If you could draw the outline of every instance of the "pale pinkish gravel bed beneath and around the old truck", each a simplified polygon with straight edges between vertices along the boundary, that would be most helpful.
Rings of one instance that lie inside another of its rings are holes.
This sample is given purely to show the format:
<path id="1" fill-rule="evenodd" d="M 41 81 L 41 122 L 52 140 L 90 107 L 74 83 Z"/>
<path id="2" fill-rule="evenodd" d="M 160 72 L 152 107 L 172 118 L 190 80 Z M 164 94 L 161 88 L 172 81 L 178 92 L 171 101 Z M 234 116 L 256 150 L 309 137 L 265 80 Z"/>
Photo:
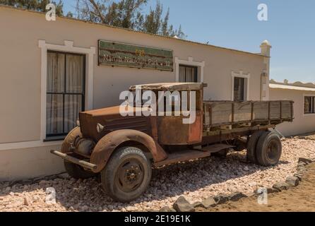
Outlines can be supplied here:
<path id="1" fill-rule="evenodd" d="M 0 211 L 148 211 L 159 210 L 184 195 L 191 203 L 208 196 L 271 187 L 296 172 L 299 157 L 315 158 L 315 141 L 283 139 L 279 165 L 260 167 L 245 163 L 246 153 L 229 153 L 226 159 L 208 157 L 153 170 L 148 191 L 137 201 L 115 203 L 96 179 L 42 180 L 35 184 L 0 183 Z M 46 189 L 56 190 L 57 203 L 46 203 Z"/>

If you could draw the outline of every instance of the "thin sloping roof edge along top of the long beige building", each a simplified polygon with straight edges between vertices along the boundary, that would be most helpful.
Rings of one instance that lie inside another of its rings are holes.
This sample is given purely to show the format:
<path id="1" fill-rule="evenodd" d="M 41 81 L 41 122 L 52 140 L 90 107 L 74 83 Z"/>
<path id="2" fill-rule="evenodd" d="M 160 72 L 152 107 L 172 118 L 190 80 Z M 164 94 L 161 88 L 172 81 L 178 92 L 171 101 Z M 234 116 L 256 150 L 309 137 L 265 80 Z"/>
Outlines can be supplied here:
<path id="1" fill-rule="evenodd" d="M 0 4 L 0 8 L 10 8 L 12 10 L 27 11 L 27 12 L 30 12 L 30 13 L 39 13 L 39 14 L 45 15 L 45 13 L 43 13 L 43 12 L 32 11 L 32 10 L 28 10 L 28 9 L 25 9 L 25 8 L 15 8 L 15 7 L 12 7 L 12 6 L 6 6 L 6 5 L 1 5 L 1 4 Z M 261 53 L 253 53 L 253 52 L 246 52 L 246 51 L 242 51 L 242 50 L 238 50 L 238 49 L 230 49 L 230 48 L 226 48 L 226 47 L 218 47 L 218 46 L 215 46 L 215 45 L 212 45 L 212 44 L 206 44 L 206 43 L 196 42 L 196 41 L 192 41 L 192 40 L 182 40 L 182 39 L 179 39 L 178 37 L 169 37 L 169 36 L 163 36 L 163 35 L 155 35 L 155 34 L 151 34 L 151 33 L 148 33 L 148 32 L 142 32 L 142 31 L 138 31 L 138 30 L 131 30 L 129 28 L 115 27 L 115 26 L 112 26 L 112 25 L 104 24 L 104 23 L 93 23 L 93 22 L 90 22 L 90 21 L 81 20 L 81 19 L 77 19 L 77 18 L 70 18 L 70 17 L 66 17 L 66 16 L 57 16 L 57 18 L 64 18 L 66 20 L 74 20 L 74 21 L 83 22 L 83 23 L 90 23 L 90 24 L 93 24 L 93 25 L 101 25 L 101 26 L 105 26 L 107 28 L 114 28 L 114 29 L 119 29 L 119 30 L 127 30 L 129 32 L 143 33 L 143 34 L 150 35 L 150 36 L 165 38 L 165 39 L 169 39 L 169 40 L 176 40 L 177 42 L 186 42 L 186 43 L 191 43 L 191 44 L 200 44 L 200 45 L 203 45 L 203 46 L 206 46 L 206 47 L 214 47 L 214 48 L 218 48 L 218 49 L 225 49 L 225 50 L 230 50 L 230 51 L 233 51 L 233 52 L 239 52 L 239 53 L 243 53 L 243 54 L 251 54 L 251 55 L 255 55 L 255 56 L 259 56 L 259 57 L 267 57 L 267 56 L 263 56 L 263 54 L 261 54 Z"/>

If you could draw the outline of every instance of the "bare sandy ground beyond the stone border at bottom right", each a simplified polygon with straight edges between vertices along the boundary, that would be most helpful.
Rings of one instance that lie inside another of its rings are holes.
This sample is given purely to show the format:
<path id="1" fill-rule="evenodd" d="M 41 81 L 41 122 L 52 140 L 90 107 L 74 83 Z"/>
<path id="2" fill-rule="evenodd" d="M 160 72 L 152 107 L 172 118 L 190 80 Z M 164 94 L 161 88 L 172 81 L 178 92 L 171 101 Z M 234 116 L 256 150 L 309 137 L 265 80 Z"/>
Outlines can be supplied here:
<path id="1" fill-rule="evenodd" d="M 315 162 L 309 165 L 299 186 L 268 196 L 268 204 L 258 204 L 255 196 L 235 203 L 227 203 L 215 208 L 198 211 L 206 212 L 315 212 Z"/>

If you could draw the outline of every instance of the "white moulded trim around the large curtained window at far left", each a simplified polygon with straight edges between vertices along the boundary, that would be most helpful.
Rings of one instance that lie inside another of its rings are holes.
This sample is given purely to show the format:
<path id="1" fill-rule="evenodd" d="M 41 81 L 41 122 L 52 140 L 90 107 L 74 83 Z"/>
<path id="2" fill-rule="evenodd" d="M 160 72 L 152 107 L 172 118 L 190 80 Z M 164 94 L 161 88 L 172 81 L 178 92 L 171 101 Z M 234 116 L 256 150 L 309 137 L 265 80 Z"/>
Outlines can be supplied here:
<path id="1" fill-rule="evenodd" d="M 64 40 L 64 45 L 49 44 L 45 40 L 39 40 L 38 46 L 42 49 L 42 66 L 41 66 L 41 129 L 40 141 L 46 138 L 46 90 L 47 90 L 47 51 L 54 50 L 60 52 L 73 52 L 85 54 L 85 109 L 93 109 L 93 66 L 95 47 L 82 48 L 74 47 L 72 41 Z"/>

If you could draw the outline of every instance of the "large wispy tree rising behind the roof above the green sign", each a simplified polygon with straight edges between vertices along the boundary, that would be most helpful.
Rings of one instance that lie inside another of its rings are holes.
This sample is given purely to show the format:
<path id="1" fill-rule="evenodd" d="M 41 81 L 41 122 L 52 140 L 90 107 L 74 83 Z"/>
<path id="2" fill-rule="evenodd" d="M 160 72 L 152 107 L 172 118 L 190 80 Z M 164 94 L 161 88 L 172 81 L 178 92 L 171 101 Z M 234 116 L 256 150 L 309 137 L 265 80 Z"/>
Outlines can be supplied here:
<path id="1" fill-rule="evenodd" d="M 155 9 L 150 8 L 150 12 L 144 14 L 142 7 L 147 3 L 148 0 L 77 0 L 76 11 L 81 20 L 105 23 L 156 35 L 185 37 L 181 26 L 175 30 L 173 25 L 169 25 L 170 8 L 165 17 L 162 18 L 162 4 L 157 1 Z"/>

